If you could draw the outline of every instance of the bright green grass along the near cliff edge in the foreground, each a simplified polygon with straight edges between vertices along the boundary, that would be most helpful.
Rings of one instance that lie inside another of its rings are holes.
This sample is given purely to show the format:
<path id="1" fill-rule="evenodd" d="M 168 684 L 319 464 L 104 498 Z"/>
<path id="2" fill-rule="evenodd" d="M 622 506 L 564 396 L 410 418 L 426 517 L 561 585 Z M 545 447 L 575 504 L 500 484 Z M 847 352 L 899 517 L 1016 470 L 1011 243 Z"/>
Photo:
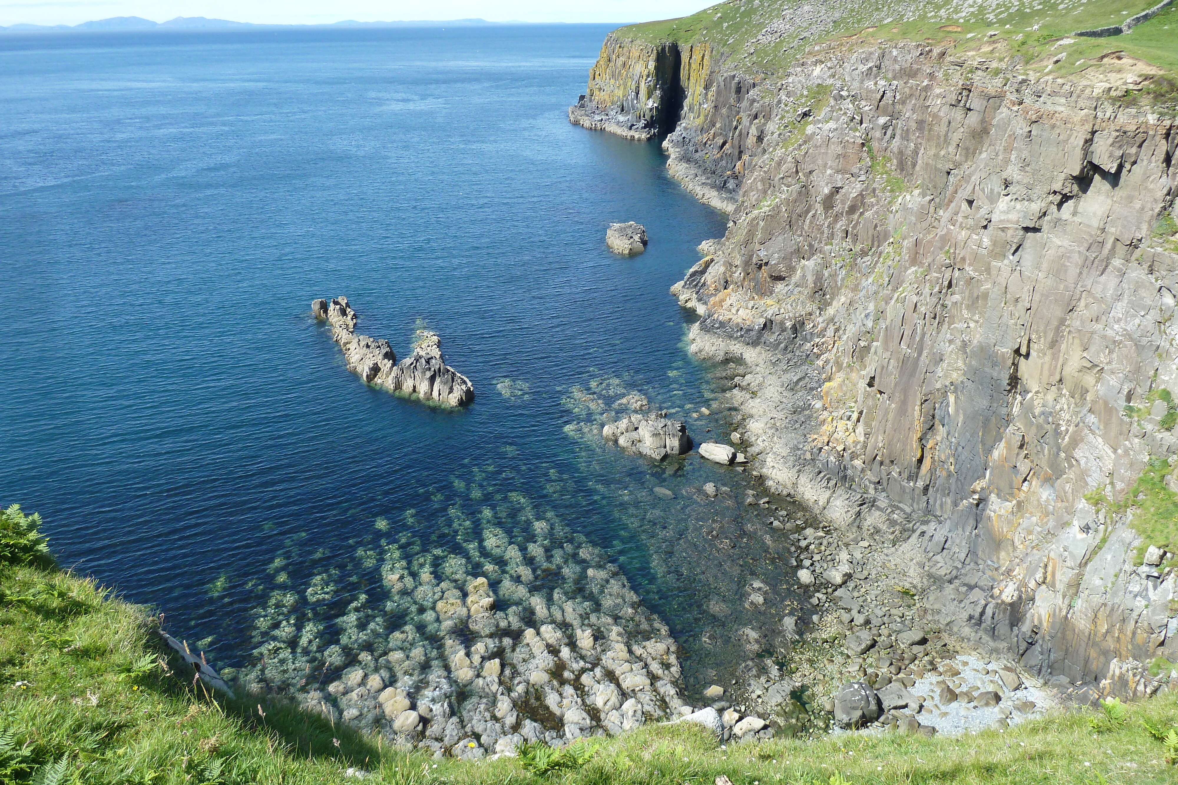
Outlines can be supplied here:
<path id="1" fill-rule="evenodd" d="M 147 608 L 58 570 L 44 550 L 31 552 L 44 540 L 31 537 L 35 520 L 19 508 L 0 515 L 2 783 L 712 785 L 724 776 L 735 785 L 1079 785 L 1174 777 L 1166 757 L 1178 747 L 1157 738 L 1178 729 L 1171 697 L 957 739 L 843 734 L 726 747 L 695 726 L 656 725 L 589 739 L 580 757 L 543 747 L 482 763 L 406 754 L 278 698 L 206 692 L 160 645 Z"/>

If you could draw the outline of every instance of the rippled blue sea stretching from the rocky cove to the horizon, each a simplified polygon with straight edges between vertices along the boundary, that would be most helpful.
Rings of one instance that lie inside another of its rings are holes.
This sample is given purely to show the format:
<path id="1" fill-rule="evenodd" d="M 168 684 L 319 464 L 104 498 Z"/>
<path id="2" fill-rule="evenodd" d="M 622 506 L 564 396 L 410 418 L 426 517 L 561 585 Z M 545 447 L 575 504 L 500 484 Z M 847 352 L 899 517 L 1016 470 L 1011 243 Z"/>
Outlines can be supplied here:
<path id="1" fill-rule="evenodd" d="M 567 119 L 609 29 L 0 39 L 0 504 L 223 666 L 276 592 L 330 638 L 380 543 L 443 557 L 455 511 L 532 505 L 622 567 L 689 681 L 723 672 L 746 585 L 781 568 L 747 475 L 593 438 L 630 393 L 696 443 L 730 427 L 667 291 L 727 218 L 657 142 Z M 604 245 L 629 220 L 633 259 Z M 340 294 L 398 358 L 436 331 L 474 404 L 349 373 L 310 313 Z"/>

